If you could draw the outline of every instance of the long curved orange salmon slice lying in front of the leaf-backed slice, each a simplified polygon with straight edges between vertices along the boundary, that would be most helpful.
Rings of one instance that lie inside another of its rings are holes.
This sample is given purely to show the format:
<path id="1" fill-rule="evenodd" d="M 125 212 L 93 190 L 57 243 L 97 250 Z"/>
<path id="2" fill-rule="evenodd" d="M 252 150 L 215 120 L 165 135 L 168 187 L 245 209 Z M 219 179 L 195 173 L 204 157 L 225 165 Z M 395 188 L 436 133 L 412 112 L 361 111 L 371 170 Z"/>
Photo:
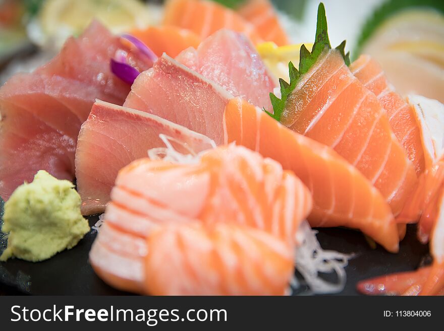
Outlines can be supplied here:
<path id="1" fill-rule="evenodd" d="M 226 142 L 261 153 L 292 170 L 313 194 L 311 226 L 346 226 L 398 251 L 398 230 L 380 192 L 331 148 L 299 135 L 240 98 L 227 105 Z"/>

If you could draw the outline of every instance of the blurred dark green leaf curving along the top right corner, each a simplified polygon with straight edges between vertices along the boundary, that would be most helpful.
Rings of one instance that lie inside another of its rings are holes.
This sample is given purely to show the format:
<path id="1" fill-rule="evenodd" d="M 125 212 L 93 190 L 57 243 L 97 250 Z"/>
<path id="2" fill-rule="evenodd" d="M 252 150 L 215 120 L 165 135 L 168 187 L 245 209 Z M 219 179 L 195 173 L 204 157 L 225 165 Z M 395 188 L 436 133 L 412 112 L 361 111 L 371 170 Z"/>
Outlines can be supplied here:
<path id="1" fill-rule="evenodd" d="M 379 28 L 379 26 L 393 15 L 406 9 L 433 9 L 444 14 L 444 1 L 442 0 L 388 0 L 378 7 L 367 19 L 362 27 L 358 42 L 353 50 L 354 59 L 356 59 L 362 47 Z"/>

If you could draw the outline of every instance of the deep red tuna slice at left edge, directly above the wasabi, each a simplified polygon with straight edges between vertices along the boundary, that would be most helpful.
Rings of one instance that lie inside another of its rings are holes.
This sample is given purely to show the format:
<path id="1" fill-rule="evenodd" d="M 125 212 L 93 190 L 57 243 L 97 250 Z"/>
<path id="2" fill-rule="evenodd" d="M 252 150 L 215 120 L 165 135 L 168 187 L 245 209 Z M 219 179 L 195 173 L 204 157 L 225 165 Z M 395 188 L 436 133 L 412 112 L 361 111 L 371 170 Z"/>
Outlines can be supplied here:
<path id="1" fill-rule="evenodd" d="M 0 111 L 0 196 L 4 200 L 41 169 L 59 179 L 73 179 L 74 140 L 6 101 L 0 100 Z"/>

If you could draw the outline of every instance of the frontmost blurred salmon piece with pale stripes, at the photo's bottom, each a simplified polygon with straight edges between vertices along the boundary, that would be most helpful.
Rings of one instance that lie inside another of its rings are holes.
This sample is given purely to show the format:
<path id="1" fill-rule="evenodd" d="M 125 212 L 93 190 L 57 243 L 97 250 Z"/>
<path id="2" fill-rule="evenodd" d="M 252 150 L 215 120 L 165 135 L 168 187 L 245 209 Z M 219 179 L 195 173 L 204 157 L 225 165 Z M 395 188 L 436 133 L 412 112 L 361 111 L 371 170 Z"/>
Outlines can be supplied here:
<path id="1" fill-rule="evenodd" d="M 294 272 L 291 245 L 237 224 L 163 227 L 148 246 L 152 295 L 284 295 Z"/>

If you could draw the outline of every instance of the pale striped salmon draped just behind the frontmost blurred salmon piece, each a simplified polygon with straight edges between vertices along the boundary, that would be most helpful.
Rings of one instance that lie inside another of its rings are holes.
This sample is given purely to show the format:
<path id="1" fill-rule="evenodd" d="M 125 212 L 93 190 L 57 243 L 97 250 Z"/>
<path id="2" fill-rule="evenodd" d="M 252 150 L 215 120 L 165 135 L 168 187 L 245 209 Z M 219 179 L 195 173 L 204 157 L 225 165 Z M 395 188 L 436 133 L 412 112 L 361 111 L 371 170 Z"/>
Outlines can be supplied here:
<path id="1" fill-rule="evenodd" d="M 204 152 L 198 164 L 135 161 L 119 172 L 111 197 L 105 219 L 140 236 L 162 223 L 230 221 L 294 243 L 312 208 L 292 172 L 235 145 Z"/>

